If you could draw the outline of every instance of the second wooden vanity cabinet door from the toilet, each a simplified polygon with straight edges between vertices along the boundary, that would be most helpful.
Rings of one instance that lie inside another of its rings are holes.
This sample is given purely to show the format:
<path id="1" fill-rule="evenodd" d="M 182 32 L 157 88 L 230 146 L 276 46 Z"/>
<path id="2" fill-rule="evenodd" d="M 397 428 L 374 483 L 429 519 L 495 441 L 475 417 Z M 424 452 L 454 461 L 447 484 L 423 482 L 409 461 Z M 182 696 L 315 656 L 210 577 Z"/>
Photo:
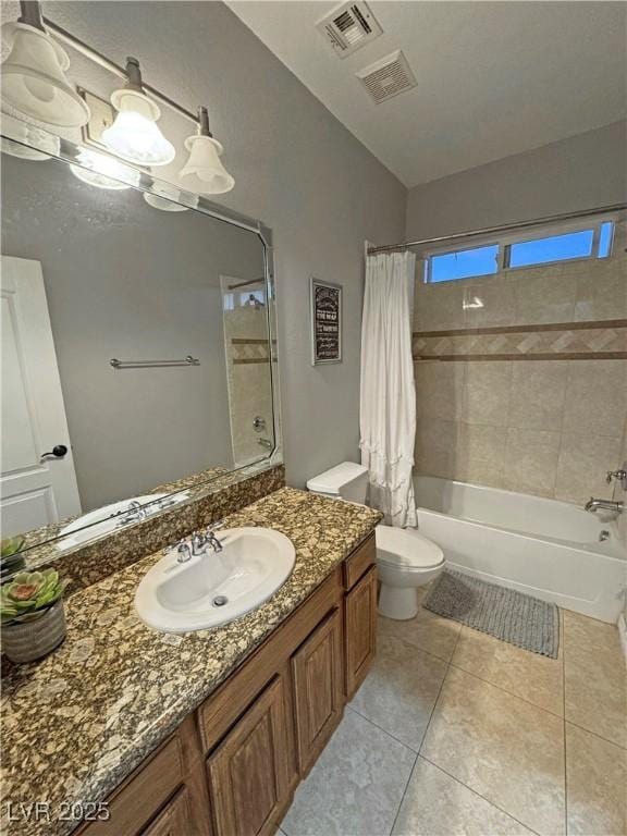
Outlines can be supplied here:
<path id="1" fill-rule="evenodd" d="M 302 773 L 314 765 L 342 717 L 343 669 L 342 614 L 334 610 L 292 657 Z"/>

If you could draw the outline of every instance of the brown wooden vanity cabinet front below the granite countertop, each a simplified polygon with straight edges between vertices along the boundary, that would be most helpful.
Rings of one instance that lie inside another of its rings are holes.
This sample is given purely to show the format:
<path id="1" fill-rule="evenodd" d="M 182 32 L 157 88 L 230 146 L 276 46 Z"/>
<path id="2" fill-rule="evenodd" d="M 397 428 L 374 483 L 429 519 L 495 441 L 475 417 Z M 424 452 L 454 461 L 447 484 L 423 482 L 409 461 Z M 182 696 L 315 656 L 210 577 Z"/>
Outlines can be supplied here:
<path id="1" fill-rule="evenodd" d="M 79 836 L 266 836 L 372 662 L 374 534 L 107 799 Z"/>

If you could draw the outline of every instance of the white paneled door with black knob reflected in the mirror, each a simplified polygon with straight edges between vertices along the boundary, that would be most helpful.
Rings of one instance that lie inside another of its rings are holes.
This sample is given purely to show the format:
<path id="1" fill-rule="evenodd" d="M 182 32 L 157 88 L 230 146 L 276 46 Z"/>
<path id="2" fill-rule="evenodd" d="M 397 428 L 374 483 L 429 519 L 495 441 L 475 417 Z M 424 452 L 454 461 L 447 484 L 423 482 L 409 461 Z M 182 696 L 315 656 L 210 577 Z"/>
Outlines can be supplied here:
<path id="1" fill-rule="evenodd" d="M 2 256 L 1 267 L 0 517 L 12 537 L 81 514 L 81 501 L 41 265 Z"/>

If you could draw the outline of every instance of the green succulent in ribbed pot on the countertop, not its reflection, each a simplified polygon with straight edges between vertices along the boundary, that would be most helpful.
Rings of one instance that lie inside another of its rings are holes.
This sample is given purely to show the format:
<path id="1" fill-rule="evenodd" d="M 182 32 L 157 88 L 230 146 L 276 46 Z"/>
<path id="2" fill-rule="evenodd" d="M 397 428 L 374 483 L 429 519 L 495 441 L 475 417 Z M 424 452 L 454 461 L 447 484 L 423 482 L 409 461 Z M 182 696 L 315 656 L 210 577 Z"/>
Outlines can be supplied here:
<path id="1" fill-rule="evenodd" d="M 34 662 L 65 638 L 66 580 L 54 569 L 20 571 L 0 587 L 2 650 L 11 662 Z"/>

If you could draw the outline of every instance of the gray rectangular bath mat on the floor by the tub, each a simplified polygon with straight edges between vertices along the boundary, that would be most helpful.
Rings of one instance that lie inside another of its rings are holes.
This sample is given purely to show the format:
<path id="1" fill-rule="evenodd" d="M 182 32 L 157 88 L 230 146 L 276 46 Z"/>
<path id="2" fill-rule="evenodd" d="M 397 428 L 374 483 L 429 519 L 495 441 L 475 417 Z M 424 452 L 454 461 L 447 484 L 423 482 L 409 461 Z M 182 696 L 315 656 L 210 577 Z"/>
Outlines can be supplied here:
<path id="1" fill-rule="evenodd" d="M 555 604 L 445 569 L 422 606 L 509 644 L 557 659 L 560 613 Z"/>

